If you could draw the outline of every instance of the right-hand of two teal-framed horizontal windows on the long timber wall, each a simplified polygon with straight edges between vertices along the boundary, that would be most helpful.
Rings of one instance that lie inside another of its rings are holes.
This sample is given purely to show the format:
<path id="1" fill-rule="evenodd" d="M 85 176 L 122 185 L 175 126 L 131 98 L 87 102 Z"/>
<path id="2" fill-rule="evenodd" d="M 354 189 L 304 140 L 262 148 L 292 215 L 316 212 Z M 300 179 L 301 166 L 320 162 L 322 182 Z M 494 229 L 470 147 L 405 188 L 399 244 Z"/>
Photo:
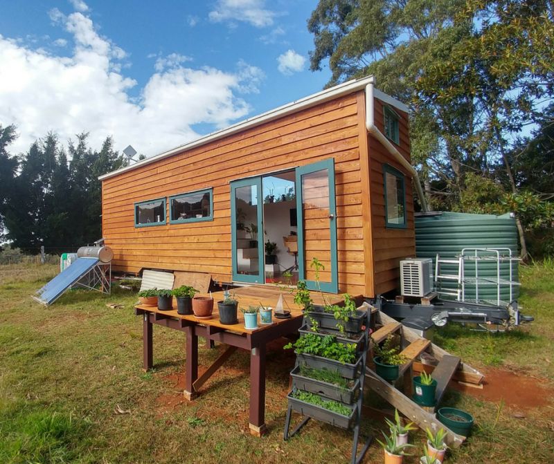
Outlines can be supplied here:
<path id="1" fill-rule="evenodd" d="M 170 223 L 192 223 L 213 219 L 212 189 L 170 196 Z"/>

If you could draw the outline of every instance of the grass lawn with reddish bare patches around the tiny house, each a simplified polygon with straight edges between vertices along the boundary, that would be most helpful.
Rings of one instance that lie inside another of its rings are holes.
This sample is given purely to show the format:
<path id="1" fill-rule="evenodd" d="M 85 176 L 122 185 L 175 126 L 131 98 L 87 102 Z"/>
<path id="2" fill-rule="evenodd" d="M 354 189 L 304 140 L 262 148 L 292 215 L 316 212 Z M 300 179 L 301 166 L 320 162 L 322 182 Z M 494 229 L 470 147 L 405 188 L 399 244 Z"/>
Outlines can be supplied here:
<path id="1" fill-rule="evenodd" d="M 294 355 L 268 353 L 266 421 L 269 435 L 248 431 L 249 356 L 238 351 L 193 402 L 179 393 L 184 334 L 154 327 L 154 366 L 144 373 L 142 322 L 136 296 L 116 288 L 111 296 L 82 290 L 44 308 L 30 295 L 56 266 L 0 266 L 0 463 L 346 463 L 352 434 L 310 423 L 285 443 L 288 372 Z M 485 375 L 510 373 L 508 391 L 536 396 L 540 407 L 501 396 L 452 391 L 445 405 L 470 411 L 474 434 L 447 463 L 554 462 L 554 266 L 521 270 L 524 313 L 535 322 L 492 335 L 450 325 L 436 342 Z M 123 309 L 107 308 L 107 303 Z M 202 344 L 206 366 L 222 347 Z M 522 385 L 525 387 L 521 390 Z M 513 387 L 513 389 L 512 389 Z M 517 390 L 519 388 L 519 390 Z M 370 393 L 369 393 L 370 394 Z M 529 396 L 529 395 L 528 395 Z M 295 416 L 298 423 L 298 416 Z M 364 419 L 366 433 L 384 429 Z M 412 436 L 420 455 L 422 433 Z M 526 458 L 528 461 L 525 461 Z M 364 463 L 381 463 L 374 444 Z M 417 463 L 417 456 L 404 459 Z M 517 461 L 519 462 L 519 461 Z"/>

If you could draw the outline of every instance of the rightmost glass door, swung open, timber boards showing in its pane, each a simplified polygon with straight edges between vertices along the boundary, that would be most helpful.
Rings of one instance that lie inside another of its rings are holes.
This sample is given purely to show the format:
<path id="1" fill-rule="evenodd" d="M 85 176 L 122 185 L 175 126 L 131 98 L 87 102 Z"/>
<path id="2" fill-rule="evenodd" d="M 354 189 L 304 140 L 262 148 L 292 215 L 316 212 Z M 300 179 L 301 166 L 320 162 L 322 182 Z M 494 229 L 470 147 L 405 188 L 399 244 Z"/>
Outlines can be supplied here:
<path id="1" fill-rule="evenodd" d="M 338 292 L 337 223 L 332 159 L 296 169 L 299 277 L 316 290 L 317 259 L 321 290 Z"/>

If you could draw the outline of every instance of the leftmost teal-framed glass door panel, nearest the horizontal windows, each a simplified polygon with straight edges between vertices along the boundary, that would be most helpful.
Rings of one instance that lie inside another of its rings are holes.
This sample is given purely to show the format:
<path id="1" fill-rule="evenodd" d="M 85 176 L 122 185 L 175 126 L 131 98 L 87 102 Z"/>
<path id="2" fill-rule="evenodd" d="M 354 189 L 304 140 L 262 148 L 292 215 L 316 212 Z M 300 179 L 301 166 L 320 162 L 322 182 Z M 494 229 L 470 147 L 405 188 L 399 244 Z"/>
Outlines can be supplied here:
<path id="1" fill-rule="evenodd" d="M 263 231 L 260 177 L 231 183 L 233 280 L 262 284 Z"/>

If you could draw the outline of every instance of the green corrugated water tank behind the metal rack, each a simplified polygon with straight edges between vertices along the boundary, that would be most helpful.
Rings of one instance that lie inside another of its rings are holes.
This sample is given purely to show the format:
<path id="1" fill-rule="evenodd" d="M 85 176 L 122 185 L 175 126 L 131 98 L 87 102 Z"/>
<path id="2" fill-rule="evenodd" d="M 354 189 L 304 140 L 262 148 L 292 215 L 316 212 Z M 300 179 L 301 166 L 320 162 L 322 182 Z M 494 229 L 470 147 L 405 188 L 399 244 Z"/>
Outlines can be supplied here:
<path id="1" fill-rule="evenodd" d="M 517 257 L 517 227 L 510 214 L 467 214 L 457 212 L 431 212 L 415 216 L 415 252 L 419 258 L 456 259 L 463 248 L 509 248 Z M 490 252 L 478 252 L 479 259 L 464 260 L 465 299 L 476 297 L 475 265 L 479 277 L 479 300 L 497 302 L 497 261 L 489 259 Z M 507 253 L 506 253 L 507 254 Z M 512 261 L 512 281 L 519 281 L 518 263 Z M 501 301 L 510 301 L 510 261 L 501 260 Z M 441 275 L 457 275 L 458 266 L 441 264 Z M 452 279 L 442 279 L 446 291 L 456 292 L 458 284 Z M 519 295 L 519 286 L 512 285 L 512 299 Z M 443 295 L 443 297 L 447 297 Z M 448 298 L 454 298 L 450 296 Z"/>

